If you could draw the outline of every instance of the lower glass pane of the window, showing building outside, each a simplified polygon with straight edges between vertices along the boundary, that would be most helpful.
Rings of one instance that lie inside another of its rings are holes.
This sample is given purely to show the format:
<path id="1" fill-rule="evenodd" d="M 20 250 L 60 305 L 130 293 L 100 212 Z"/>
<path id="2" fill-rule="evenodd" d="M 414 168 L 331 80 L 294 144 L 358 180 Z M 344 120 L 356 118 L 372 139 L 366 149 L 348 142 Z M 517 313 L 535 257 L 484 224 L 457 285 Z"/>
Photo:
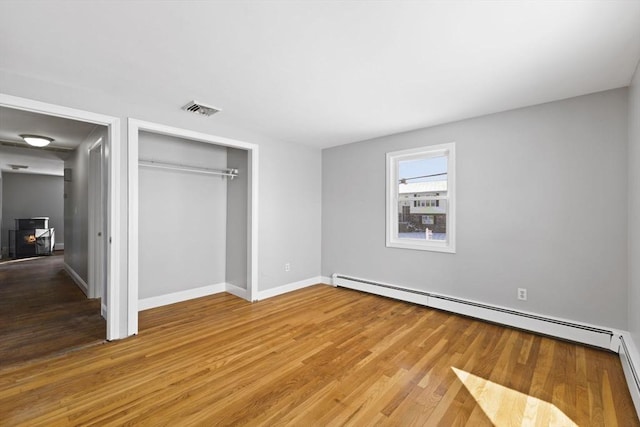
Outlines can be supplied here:
<path id="1" fill-rule="evenodd" d="M 398 238 L 447 240 L 447 200 L 437 201 L 437 207 L 414 207 L 411 202 L 399 201 Z"/>

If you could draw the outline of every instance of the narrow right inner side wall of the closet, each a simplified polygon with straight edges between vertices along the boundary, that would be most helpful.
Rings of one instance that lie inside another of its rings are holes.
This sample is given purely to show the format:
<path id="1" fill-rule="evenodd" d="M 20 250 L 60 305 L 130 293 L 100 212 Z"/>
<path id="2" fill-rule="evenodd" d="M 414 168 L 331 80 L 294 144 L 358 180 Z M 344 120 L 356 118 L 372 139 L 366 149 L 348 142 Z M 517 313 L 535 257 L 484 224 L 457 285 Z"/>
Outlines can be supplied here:
<path id="1" fill-rule="evenodd" d="M 248 153 L 227 148 L 227 167 L 238 176 L 227 182 L 226 282 L 247 289 Z"/>

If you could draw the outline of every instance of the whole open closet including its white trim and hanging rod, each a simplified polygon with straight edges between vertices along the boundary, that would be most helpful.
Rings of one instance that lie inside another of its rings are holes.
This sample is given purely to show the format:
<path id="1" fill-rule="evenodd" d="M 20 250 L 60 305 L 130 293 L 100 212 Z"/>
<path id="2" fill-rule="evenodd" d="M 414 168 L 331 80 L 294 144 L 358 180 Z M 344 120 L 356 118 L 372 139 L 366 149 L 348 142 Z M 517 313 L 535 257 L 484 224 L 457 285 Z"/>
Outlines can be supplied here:
<path id="1" fill-rule="evenodd" d="M 140 310 L 257 290 L 257 146 L 129 120 L 129 325 Z"/>

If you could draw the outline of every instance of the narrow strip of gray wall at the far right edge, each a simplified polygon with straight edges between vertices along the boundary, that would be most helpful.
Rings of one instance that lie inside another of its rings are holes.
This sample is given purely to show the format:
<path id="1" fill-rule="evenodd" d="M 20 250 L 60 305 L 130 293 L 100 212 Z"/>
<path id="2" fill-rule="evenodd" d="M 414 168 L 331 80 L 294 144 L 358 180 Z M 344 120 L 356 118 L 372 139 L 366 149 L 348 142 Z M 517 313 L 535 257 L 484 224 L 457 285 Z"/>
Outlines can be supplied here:
<path id="1" fill-rule="evenodd" d="M 629 331 L 640 346 L 640 69 L 629 90 Z"/>

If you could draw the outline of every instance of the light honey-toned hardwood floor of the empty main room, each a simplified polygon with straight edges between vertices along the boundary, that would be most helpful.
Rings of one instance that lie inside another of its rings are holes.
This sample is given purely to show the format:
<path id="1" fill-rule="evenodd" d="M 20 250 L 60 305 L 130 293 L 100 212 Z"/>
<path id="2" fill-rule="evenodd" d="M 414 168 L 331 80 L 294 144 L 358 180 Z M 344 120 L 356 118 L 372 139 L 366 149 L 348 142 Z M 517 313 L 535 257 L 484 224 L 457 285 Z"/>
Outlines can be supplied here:
<path id="1" fill-rule="evenodd" d="M 640 426 L 616 354 L 317 285 L 0 370 L 3 425 Z"/>

